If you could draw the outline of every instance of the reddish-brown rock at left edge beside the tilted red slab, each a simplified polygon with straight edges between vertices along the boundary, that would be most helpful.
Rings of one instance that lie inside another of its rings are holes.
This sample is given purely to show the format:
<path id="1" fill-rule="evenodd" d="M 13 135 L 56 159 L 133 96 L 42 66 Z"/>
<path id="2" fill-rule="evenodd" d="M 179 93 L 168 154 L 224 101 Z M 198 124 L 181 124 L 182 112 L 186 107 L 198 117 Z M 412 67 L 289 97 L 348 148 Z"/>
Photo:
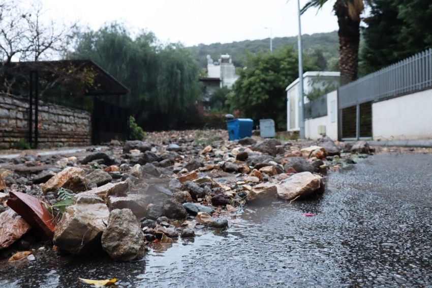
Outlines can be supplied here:
<path id="1" fill-rule="evenodd" d="M 0 214 L 0 250 L 20 239 L 30 228 L 27 221 L 12 209 Z"/>

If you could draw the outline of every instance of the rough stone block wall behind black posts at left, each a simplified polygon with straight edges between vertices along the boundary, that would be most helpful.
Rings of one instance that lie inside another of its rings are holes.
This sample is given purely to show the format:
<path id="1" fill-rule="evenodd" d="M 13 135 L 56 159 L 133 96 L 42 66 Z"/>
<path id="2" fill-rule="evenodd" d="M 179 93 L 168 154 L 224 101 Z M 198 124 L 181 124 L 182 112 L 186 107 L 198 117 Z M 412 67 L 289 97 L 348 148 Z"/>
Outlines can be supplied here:
<path id="1" fill-rule="evenodd" d="M 28 141 L 28 112 L 26 98 L 0 96 L 0 148 L 13 148 L 19 139 Z M 39 101 L 38 128 L 40 149 L 91 145 L 91 113 L 88 111 Z"/>

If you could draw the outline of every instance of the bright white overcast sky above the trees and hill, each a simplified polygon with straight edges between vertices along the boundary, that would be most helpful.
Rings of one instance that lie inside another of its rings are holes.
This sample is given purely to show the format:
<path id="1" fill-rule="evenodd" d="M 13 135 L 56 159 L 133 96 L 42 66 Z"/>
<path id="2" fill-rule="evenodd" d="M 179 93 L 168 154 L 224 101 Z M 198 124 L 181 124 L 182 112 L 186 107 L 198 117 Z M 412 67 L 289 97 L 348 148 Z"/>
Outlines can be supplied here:
<path id="1" fill-rule="evenodd" d="M 300 0 L 303 6 L 307 0 Z M 163 42 L 200 43 L 233 41 L 298 34 L 297 0 L 42 0 L 54 18 L 79 19 L 98 30 L 104 23 L 125 22 L 146 28 Z M 302 34 L 337 30 L 333 1 L 322 10 L 301 16 Z"/>

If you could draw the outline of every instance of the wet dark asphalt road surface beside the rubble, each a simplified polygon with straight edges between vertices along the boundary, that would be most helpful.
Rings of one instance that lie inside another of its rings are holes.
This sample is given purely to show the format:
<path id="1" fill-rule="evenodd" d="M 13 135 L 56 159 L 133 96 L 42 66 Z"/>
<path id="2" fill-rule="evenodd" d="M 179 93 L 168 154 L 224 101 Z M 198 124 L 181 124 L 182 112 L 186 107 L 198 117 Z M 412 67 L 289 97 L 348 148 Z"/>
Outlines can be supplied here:
<path id="1" fill-rule="evenodd" d="M 38 252 L 23 268 L 0 265 L 0 287 L 432 287 L 431 180 L 432 156 L 376 155 L 331 174 L 319 198 L 249 206 L 227 231 L 141 262 Z"/>

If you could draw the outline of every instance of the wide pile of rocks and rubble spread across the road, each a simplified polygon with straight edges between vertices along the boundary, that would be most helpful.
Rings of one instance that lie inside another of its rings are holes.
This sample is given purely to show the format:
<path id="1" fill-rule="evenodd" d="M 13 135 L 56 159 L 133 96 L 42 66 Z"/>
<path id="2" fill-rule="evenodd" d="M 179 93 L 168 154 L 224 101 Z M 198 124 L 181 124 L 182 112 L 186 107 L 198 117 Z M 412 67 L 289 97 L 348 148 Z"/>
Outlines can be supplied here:
<path id="1" fill-rule="evenodd" d="M 86 156 L 23 155 L 0 167 L 0 256 L 45 241 L 78 255 L 138 260 L 146 245 L 223 229 L 246 203 L 324 192 L 323 177 L 367 143 L 202 139 L 188 132 L 113 140 Z M 348 153 L 342 153 L 347 151 Z M 52 240 L 52 242 L 51 242 Z"/>

